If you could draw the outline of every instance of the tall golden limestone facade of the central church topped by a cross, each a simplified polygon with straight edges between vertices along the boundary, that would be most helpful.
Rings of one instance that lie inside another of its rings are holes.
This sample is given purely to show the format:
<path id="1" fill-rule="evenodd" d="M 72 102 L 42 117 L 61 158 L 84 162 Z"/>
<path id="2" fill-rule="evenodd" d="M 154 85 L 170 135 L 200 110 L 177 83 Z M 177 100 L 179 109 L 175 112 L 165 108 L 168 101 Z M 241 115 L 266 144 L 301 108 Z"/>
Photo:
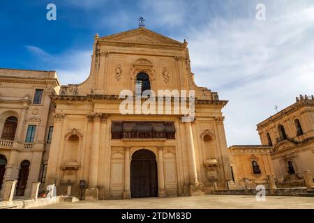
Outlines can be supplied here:
<path id="1" fill-rule="evenodd" d="M 143 27 L 96 35 L 87 80 L 61 86 L 52 96 L 56 109 L 47 183 L 56 183 L 58 193 L 73 185 L 71 192 L 79 195 L 85 180 L 85 199 L 204 194 L 215 182 L 225 188 L 231 171 L 221 109 L 227 101 L 194 84 L 187 45 Z M 195 121 L 182 122 L 182 114 L 173 113 L 121 114 L 119 93 L 134 93 L 143 73 L 156 93 L 194 90 Z M 145 133 L 148 126 L 153 132 Z M 159 128 L 165 132 L 157 135 Z M 136 178 L 141 163 L 156 169 L 138 177 L 151 184 Z M 145 194 L 139 187 L 152 188 Z"/>

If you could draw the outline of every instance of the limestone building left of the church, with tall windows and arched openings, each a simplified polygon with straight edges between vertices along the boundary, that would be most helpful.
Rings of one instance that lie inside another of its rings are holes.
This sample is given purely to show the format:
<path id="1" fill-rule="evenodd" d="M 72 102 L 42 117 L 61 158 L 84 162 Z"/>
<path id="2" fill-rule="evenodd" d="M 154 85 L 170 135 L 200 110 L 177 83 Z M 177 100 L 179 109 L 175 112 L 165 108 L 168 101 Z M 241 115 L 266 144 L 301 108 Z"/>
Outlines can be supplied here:
<path id="1" fill-rule="evenodd" d="M 42 180 L 53 126 L 50 95 L 58 93 L 55 71 L 0 69 L 0 197 L 7 180 L 17 180 L 17 197 L 31 195 Z"/>

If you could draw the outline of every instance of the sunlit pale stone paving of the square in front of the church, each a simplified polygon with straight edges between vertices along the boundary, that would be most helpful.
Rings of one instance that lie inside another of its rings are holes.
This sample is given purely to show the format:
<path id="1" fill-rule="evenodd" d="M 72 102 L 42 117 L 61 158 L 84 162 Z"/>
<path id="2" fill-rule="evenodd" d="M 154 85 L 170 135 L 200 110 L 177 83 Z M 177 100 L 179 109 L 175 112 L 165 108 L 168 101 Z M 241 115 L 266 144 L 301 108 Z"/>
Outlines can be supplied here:
<path id="1" fill-rule="evenodd" d="M 38 208 L 52 209 L 160 209 L 160 208 L 311 208 L 314 209 L 313 197 L 267 196 L 266 201 L 256 201 L 255 196 L 247 195 L 202 195 L 194 197 L 140 198 L 128 200 L 77 201 L 75 203 L 55 203 Z"/>

